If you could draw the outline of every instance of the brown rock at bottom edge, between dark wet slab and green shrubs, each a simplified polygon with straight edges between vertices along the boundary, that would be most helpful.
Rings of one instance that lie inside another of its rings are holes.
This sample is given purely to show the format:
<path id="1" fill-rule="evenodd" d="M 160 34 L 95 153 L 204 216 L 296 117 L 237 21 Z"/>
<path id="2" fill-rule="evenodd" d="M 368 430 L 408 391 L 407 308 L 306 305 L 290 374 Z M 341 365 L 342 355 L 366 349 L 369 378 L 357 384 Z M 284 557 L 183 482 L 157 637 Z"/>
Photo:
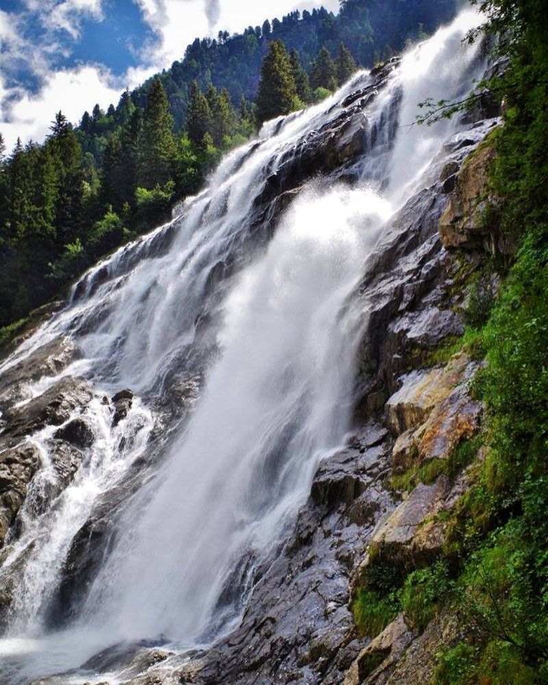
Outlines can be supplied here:
<path id="1" fill-rule="evenodd" d="M 343 685 L 362 685 L 362 683 L 386 683 L 395 665 L 412 643 L 413 632 L 409 629 L 403 614 L 387 625 L 350 667 Z"/>

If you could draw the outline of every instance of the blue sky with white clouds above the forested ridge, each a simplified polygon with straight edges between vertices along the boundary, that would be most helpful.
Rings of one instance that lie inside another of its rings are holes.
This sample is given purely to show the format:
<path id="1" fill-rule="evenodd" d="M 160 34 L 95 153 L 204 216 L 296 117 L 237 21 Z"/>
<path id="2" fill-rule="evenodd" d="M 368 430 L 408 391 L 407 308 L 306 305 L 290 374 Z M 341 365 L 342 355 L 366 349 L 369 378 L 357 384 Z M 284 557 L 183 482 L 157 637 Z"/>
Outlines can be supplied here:
<path id="1" fill-rule="evenodd" d="M 338 0 L 0 0 L 0 133 L 41 142 L 55 112 L 77 123 L 95 103 L 180 60 L 197 36 L 242 32 Z"/>

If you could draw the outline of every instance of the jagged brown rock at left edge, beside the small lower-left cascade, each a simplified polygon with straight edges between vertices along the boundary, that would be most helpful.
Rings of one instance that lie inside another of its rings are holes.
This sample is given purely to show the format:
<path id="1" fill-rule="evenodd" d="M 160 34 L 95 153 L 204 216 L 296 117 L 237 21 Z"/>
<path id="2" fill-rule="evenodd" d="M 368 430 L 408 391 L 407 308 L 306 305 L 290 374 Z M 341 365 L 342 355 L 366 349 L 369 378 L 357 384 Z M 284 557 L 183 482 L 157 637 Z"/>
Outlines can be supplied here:
<path id="1" fill-rule="evenodd" d="M 29 482 L 40 466 L 40 450 L 28 442 L 0 452 L 0 547 L 27 497 Z"/>

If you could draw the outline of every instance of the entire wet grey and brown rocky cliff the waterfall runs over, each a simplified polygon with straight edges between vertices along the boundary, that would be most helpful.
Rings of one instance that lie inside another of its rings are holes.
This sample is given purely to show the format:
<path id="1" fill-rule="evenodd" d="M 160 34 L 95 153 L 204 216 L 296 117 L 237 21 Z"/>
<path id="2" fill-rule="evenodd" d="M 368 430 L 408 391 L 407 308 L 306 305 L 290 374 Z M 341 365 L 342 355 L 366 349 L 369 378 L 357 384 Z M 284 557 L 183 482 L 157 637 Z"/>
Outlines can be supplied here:
<path id="1" fill-rule="evenodd" d="M 361 113 L 395 66 L 397 60 L 379 69 L 373 83 L 355 90 L 336 116 L 278 160 L 253 201 L 249 236 L 273 232 L 307 179 L 323 171 L 331 181 L 352 183 L 378 138 L 393 140 L 394 119 L 380 119 L 371 130 Z M 471 393 L 482 360 L 460 339 L 471 277 L 486 253 L 511 249 L 484 221 L 486 208 L 496 205 L 486 170 L 497 123 L 477 116 L 447 140 L 429 183 L 399 210 L 364 264 L 351 298 L 362 332 L 353 434 L 345 449 L 323 460 L 292 530 L 254 572 L 238 624 L 212 647 L 183 654 L 158 647 L 160 639 L 124 643 L 94 656 L 80 676 L 124 685 L 429 681 L 440 645 L 458 638 L 455 616 L 440 611 L 418 625 L 403 612 L 367 630 L 358 598 L 377 591 L 379 576 L 393 577 L 397 585 L 445 554 L 447 514 L 458 507 L 476 460 L 483 458 L 477 438 L 483 408 Z M 171 230 L 128 253 L 125 273 L 139 251 L 165 253 Z M 238 253 L 230 263 L 215 264 L 208 292 L 229 279 L 237 263 Z M 93 271 L 75 299 L 109 277 Z M 203 325 L 213 308 L 209 302 L 194 312 L 197 336 L 206 341 L 201 356 L 187 354 L 183 377 L 164 375 L 161 392 L 155 387 L 143 398 L 154 398 L 153 421 L 130 390 L 112 397 L 97 393 L 79 369 L 83 353 L 69 336 L 51 340 L 1 374 L 0 564 L 7 572 L 0 577 L 0 606 L 6 622 L 16 613 L 25 561 L 40 545 L 39 536 L 28 542 L 25 532 L 40 512 L 55 508 L 90 447 L 105 439 L 105 426 L 121 454 L 146 435 L 142 456 L 95 502 L 66 546 L 62 579 L 55 597 L 47 598 L 48 621 L 66 625 L 79 612 L 82 588 L 112 549 L 117 512 L 162 460 L 170 430 L 192 411 L 204 360 L 214 354 L 212 332 Z M 43 377 L 47 382 L 36 386 Z M 25 546 L 15 562 L 14 545 Z M 234 586 L 244 576 L 236 569 L 234 585 L 229 582 L 219 597 L 220 610 L 238 601 Z M 46 682 L 61 683 L 63 677 Z"/>

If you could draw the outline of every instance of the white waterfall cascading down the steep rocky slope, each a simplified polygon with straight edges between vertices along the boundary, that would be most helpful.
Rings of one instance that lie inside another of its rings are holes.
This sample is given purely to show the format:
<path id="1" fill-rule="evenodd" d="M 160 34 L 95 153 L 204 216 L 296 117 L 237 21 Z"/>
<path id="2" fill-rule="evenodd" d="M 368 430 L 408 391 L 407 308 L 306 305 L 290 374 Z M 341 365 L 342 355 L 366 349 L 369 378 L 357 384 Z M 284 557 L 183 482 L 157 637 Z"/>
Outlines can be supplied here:
<path id="1" fill-rule="evenodd" d="M 273 237 L 261 232 L 270 217 L 258 207 L 271 179 L 344 114 L 345 100 L 372 83 L 369 73 L 321 105 L 266 124 L 173 223 L 92 269 L 69 306 L 0 367 L 69 336 L 84 359 L 65 373 L 90 379 L 97 393 L 86 409 L 96 440 L 73 483 L 29 516 L 3 553 L 0 580 L 15 573 L 17 584 L 0 642 L 10 682 L 77 667 L 118 640 L 205 644 L 238 620 L 256 562 L 279 547 L 319 461 L 344 443 L 360 339 L 350 296 L 379 233 L 427 184 L 429 165 L 458 127 L 411 125 L 416 103 L 459 97 L 481 75 L 478 48 L 462 45 L 477 23 L 461 14 L 373 93 L 360 112 L 367 152 L 353 188 L 309 182 Z M 151 442 L 164 395 L 177 401 L 173 378 L 203 373 L 190 419 Z M 27 399 L 54 382 L 41 379 Z M 113 428 L 101 397 L 127 387 L 141 400 Z M 43 454 L 34 487 L 49 478 L 52 433 L 31 438 Z M 151 449 L 162 458 L 116 512 L 112 549 L 73 625 L 48 634 L 48 601 L 74 536 Z"/>

